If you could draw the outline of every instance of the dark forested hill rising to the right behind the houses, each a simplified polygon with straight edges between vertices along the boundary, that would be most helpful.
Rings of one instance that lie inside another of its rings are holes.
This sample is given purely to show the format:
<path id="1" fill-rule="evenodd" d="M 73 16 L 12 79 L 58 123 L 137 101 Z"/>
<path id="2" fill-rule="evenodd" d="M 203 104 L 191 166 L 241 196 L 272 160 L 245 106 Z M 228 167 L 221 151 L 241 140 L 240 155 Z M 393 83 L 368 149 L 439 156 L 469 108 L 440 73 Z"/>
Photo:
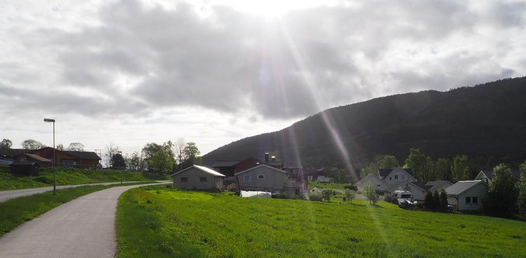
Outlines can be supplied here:
<path id="1" fill-rule="evenodd" d="M 380 154 L 403 162 L 410 148 L 434 159 L 467 154 L 481 167 L 526 159 L 526 77 L 381 97 L 322 112 L 336 126 L 355 168 Z M 203 162 L 262 158 L 264 151 L 278 151 L 290 161 L 299 154 L 307 167 L 343 167 L 321 113 L 280 131 L 229 143 L 207 153 Z"/>

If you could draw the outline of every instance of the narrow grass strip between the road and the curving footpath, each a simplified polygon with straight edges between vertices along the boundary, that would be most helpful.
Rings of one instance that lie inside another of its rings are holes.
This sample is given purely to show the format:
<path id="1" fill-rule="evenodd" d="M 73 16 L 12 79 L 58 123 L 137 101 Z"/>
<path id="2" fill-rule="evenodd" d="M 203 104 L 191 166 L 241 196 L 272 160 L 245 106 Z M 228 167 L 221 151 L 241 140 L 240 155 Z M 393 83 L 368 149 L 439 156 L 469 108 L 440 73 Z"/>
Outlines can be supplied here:
<path id="1" fill-rule="evenodd" d="M 13 230 L 16 226 L 34 219 L 60 204 L 71 201 L 82 195 L 96 192 L 99 190 L 120 187 L 123 185 L 146 184 L 155 182 L 125 183 L 115 185 L 93 185 L 57 190 L 57 195 L 53 191 L 18 197 L 0 202 L 0 236 Z"/>

